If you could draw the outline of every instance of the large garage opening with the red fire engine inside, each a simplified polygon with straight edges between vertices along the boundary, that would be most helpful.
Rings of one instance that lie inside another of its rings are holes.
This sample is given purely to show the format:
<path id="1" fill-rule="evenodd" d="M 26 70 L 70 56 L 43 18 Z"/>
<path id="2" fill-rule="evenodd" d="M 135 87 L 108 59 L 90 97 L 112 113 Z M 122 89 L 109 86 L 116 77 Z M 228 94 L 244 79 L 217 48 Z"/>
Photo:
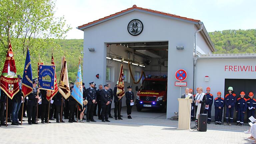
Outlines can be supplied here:
<path id="1" fill-rule="evenodd" d="M 118 81 L 120 65 L 124 58 L 125 91 L 126 87 L 131 85 L 135 95 L 133 114 L 166 113 L 168 41 L 108 43 L 106 56 L 106 82 L 113 83 L 113 86 Z M 125 97 L 122 102 L 122 106 L 125 106 Z"/>

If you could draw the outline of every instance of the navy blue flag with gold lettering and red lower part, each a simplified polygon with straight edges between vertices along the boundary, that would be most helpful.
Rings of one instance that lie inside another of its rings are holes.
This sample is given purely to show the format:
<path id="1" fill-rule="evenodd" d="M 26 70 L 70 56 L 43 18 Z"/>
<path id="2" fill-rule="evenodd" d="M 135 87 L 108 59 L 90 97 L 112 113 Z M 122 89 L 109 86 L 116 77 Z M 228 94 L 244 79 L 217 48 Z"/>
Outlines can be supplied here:
<path id="1" fill-rule="evenodd" d="M 30 61 L 29 50 L 27 49 L 27 56 L 23 71 L 23 79 L 22 79 L 22 93 L 26 97 L 33 91 L 33 82 L 32 82 L 32 68 Z"/>

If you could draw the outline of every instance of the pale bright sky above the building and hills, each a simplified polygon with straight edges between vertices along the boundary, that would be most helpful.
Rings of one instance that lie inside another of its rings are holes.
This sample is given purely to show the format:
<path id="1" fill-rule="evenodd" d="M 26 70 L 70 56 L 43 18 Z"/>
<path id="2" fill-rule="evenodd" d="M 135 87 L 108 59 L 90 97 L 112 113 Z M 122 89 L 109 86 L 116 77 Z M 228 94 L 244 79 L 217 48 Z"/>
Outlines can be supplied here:
<path id="1" fill-rule="evenodd" d="M 132 7 L 202 21 L 208 32 L 256 29 L 256 0 L 56 0 L 55 17 L 71 26 L 66 39 L 83 39 L 77 27 Z"/>

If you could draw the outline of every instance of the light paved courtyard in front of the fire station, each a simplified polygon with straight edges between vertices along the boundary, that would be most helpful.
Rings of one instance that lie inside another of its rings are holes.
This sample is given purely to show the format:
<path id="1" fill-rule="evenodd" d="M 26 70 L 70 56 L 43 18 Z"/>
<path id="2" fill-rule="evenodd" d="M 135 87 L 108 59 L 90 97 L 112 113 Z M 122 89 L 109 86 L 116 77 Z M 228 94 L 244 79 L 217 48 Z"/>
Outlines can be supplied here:
<path id="1" fill-rule="evenodd" d="M 133 109 L 133 119 L 127 119 L 125 107 L 122 109 L 123 120 L 111 122 L 56 123 L 0 127 L 1 144 L 166 144 L 166 143 L 207 143 L 207 144 L 243 144 L 250 135 L 242 131 L 249 126 L 224 126 L 210 124 L 207 132 L 177 130 L 178 121 L 165 119 L 164 113 L 146 110 L 137 112 Z M 112 112 L 113 113 L 113 112 Z M 26 120 L 26 119 L 25 119 Z M 193 124 L 193 123 L 192 123 Z"/>

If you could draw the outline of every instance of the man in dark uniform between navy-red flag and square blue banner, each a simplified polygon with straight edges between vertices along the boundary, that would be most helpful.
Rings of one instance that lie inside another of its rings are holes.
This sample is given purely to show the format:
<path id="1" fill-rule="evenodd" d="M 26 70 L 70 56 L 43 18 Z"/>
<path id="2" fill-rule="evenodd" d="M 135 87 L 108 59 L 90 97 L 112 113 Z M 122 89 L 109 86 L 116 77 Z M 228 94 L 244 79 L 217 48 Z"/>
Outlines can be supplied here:
<path id="1" fill-rule="evenodd" d="M 36 81 L 33 81 L 33 92 L 28 95 L 27 113 L 28 113 L 28 124 L 38 124 L 36 122 L 36 104 L 38 102 L 39 89 L 36 89 Z M 31 120 L 32 118 L 32 120 Z"/>

